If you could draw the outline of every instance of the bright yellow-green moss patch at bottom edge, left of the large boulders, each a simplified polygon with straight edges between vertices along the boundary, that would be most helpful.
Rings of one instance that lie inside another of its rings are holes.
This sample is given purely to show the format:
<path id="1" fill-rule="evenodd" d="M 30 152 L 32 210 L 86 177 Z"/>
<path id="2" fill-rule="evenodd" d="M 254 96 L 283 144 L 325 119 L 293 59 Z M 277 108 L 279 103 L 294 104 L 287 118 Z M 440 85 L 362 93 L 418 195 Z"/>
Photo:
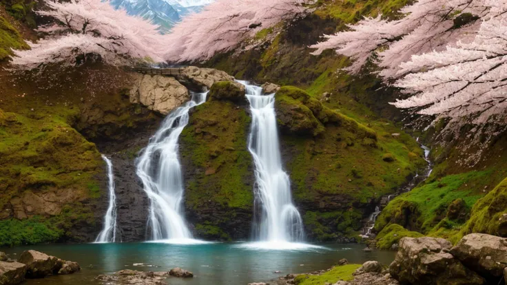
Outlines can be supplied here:
<path id="1" fill-rule="evenodd" d="M 294 284 L 298 285 L 325 285 L 335 284 L 336 282 L 351 281 L 354 279 L 352 273 L 354 273 L 360 264 L 346 264 L 342 266 L 335 266 L 330 271 L 322 273 L 321 275 L 309 275 L 301 274 L 294 279 Z"/>

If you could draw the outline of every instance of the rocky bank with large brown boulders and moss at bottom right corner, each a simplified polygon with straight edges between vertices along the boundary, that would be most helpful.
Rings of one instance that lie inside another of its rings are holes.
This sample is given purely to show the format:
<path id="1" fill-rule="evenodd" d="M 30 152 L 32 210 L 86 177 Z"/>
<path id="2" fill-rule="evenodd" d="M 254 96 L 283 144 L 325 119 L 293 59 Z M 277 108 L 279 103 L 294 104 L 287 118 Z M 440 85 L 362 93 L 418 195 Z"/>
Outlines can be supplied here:
<path id="1" fill-rule="evenodd" d="M 442 238 L 404 237 L 389 267 L 376 261 L 360 266 L 340 260 L 333 268 L 289 274 L 269 284 L 483 285 L 505 284 L 506 277 L 507 239 L 472 233 L 455 246 Z"/>

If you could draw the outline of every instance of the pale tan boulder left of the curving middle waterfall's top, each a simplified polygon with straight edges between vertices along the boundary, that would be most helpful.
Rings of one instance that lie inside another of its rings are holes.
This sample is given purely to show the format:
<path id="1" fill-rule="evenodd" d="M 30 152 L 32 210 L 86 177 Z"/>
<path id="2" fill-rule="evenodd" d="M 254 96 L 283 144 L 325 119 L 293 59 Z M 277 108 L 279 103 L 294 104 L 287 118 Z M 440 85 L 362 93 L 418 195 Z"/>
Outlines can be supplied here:
<path id="1" fill-rule="evenodd" d="M 163 115 L 190 99 L 188 89 L 173 77 L 134 74 L 130 102 L 145 105 Z"/>

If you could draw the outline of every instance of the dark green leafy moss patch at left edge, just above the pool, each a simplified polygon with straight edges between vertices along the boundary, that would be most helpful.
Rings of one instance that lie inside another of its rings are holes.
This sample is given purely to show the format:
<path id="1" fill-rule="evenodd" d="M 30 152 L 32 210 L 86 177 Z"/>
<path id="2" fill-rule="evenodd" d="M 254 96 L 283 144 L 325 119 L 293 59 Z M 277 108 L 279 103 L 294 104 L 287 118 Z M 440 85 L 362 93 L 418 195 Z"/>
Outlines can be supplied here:
<path id="1" fill-rule="evenodd" d="M 0 246 L 56 242 L 61 235 L 61 229 L 37 216 L 22 221 L 0 220 Z"/>

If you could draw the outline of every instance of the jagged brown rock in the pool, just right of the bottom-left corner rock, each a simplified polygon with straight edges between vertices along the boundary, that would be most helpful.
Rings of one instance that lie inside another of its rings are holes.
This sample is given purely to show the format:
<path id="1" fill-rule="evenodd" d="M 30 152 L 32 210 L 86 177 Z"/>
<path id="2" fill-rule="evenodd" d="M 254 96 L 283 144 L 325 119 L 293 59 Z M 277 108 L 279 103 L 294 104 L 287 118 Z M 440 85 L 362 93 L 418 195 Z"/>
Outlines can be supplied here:
<path id="1" fill-rule="evenodd" d="M 18 262 L 26 265 L 27 278 L 42 278 L 56 274 L 70 274 L 81 270 L 77 262 L 61 260 L 39 251 L 24 251 Z"/>

